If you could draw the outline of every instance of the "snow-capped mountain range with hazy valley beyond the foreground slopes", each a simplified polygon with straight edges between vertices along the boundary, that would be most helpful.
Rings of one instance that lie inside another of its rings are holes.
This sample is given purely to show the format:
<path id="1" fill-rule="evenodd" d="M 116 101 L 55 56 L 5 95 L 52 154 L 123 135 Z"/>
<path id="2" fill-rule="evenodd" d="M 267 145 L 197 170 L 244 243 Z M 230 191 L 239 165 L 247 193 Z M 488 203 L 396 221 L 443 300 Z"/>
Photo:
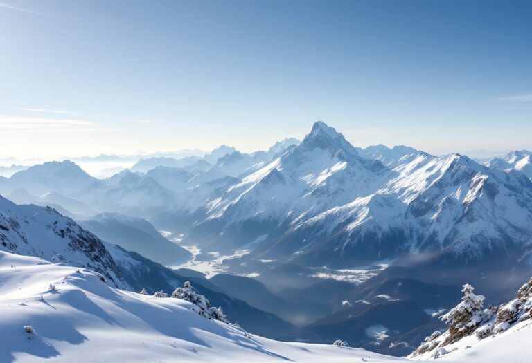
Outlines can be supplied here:
<path id="1" fill-rule="evenodd" d="M 50 205 L 94 232 L 116 265 L 106 272 L 116 286 L 169 291 L 191 279 L 228 316 L 238 304 L 249 311 L 243 326 L 281 339 L 342 335 L 406 355 L 441 327 L 432 314 L 452 307 L 464 277 L 499 304 L 532 274 L 528 151 L 481 165 L 407 146 L 362 149 L 323 122 L 301 142 L 221 150 L 147 159 L 105 179 L 47 162 L 0 178 L 0 193 Z M 195 268 L 183 263 L 184 247 L 215 276 L 183 269 Z M 35 251 L 20 253 L 69 256 Z M 103 273 L 87 258 L 67 262 Z M 275 323 L 260 326 L 266 316 Z"/>

